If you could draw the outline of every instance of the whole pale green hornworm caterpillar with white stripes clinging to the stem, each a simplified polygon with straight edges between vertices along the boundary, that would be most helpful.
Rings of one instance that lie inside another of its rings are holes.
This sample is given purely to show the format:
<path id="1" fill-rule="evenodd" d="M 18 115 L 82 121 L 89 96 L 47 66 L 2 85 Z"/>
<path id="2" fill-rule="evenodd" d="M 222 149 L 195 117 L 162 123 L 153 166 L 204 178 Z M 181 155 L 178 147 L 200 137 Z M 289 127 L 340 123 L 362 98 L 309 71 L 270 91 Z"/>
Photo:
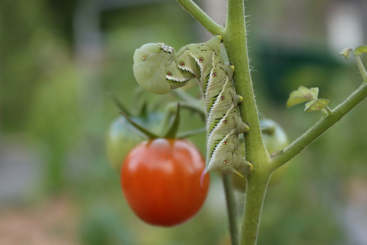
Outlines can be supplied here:
<path id="1" fill-rule="evenodd" d="M 134 75 L 140 86 L 155 94 L 185 86 L 192 78 L 200 83 L 207 111 L 207 172 L 234 173 L 247 177 L 252 165 L 241 155 L 238 134 L 249 130 L 242 122 L 232 75 L 234 66 L 221 55 L 222 37 L 189 44 L 175 52 L 164 43 L 148 43 L 135 50 Z"/>

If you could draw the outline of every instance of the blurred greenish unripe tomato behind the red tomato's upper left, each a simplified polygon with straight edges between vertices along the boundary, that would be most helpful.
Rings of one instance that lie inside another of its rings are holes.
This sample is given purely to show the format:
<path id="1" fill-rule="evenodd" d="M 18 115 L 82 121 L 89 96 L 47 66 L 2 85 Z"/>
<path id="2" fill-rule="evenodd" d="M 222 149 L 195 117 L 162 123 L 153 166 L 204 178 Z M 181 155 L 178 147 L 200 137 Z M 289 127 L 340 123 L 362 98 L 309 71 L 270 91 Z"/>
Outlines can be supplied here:
<path id="1" fill-rule="evenodd" d="M 149 114 L 147 119 L 132 117 L 132 120 L 155 132 L 160 130 L 162 118 L 161 114 L 153 113 Z M 123 116 L 116 118 L 112 122 L 106 136 L 106 154 L 110 166 L 117 172 L 120 172 L 121 165 L 131 149 L 147 139 L 126 118 Z"/>

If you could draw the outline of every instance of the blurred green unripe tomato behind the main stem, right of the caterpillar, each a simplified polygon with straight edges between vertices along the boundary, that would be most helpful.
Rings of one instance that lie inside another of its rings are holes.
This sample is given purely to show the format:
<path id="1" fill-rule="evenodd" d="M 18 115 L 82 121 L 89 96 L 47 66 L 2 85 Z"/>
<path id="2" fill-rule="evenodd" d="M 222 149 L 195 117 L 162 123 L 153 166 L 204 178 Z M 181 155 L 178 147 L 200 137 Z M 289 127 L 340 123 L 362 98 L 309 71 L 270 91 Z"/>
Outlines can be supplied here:
<path id="1" fill-rule="evenodd" d="M 269 154 L 287 147 L 288 139 L 286 132 L 284 132 L 278 123 L 270 119 L 261 119 L 260 125 L 262 129 L 265 129 L 263 130 L 262 138 Z M 244 146 L 240 147 L 244 148 Z M 271 187 L 278 183 L 283 178 L 287 168 L 288 165 L 283 165 L 276 169 L 272 174 L 268 186 Z M 246 191 L 246 179 L 233 175 L 233 186 L 239 191 Z"/>

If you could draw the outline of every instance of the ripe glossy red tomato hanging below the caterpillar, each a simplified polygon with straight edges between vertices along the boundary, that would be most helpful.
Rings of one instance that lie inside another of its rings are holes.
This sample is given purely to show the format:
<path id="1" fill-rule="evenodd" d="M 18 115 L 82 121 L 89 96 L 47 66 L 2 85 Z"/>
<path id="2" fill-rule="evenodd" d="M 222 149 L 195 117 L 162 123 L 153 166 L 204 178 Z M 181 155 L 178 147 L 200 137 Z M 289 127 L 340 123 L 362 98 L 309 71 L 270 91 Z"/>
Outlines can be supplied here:
<path id="1" fill-rule="evenodd" d="M 200 187 L 205 161 L 188 140 L 143 141 L 121 168 L 121 186 L 130 208 L 142 220 L 174 226 L 193 217 L 207 195 L 209 174 Z"/>

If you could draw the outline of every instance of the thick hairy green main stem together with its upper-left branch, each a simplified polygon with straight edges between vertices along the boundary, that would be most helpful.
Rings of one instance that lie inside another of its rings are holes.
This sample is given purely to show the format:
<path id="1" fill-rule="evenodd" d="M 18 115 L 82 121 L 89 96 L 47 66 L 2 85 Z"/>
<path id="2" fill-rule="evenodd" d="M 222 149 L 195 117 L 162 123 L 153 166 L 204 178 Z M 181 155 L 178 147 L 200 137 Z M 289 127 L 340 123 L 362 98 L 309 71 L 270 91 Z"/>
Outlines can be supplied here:
<path id="1" fill-rule="evenodd" d="M 254 90 L 252 89 L 247 55 L 244 3 L 243 0 L 228 0 L 227 21 L 223 30 L 191 0 L 177 1 L 210 33 L 222 35 L 229 61 L 235 66 L 233 82 L 236 93 L 243 96 L 243 103 L 240 106 L 241 118 L 243 122 L 250 125 L 250 131 L 245 134 L 246 160 L 251 161 L 254 166 L 247 179 L 248 187 L 239 244 L 255 245 L 271 168 L 270 157 L 262 139 Z"/>

